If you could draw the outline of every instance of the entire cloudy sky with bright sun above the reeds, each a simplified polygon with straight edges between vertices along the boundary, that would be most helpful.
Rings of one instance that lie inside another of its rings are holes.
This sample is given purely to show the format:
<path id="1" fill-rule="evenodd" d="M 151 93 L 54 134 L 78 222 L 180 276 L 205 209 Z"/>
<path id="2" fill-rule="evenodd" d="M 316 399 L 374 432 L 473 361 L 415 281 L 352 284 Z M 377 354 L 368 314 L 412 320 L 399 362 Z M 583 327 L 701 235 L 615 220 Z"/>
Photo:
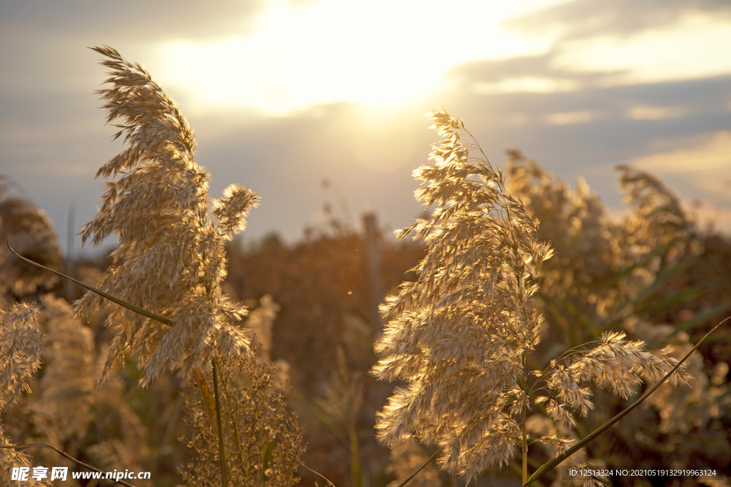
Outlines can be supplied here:
<path id="1" fill-rule="evenodd" d="M 356 229 L 375 212 L 385 237 L 409 225 L 442 106 L 493 165 L 519 148 L 618 214 L 613 168 L 631 164 L 731 231 L 727 0 L 0 0 L 0 174 L 64 247 L 123 147 L 95 45 L 178 101 L 211 196 L 260 193 L 244 242 L 296 242 L 326 203 Z"/>

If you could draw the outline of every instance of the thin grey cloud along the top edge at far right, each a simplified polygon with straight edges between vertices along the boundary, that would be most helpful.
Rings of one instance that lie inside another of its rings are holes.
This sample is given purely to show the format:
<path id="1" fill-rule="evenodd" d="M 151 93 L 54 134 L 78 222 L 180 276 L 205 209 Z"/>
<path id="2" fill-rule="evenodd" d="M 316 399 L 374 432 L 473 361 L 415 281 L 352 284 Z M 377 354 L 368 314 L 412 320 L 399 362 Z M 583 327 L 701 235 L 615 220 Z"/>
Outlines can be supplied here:
<path id="1" fill-rule="evenodd" d="M 526 34 L 558 32 L 561 39 L 626 37 L 667 28 L 689 14 L 731 18 L 727 0 L 575 0 L 504 21 Z"/>

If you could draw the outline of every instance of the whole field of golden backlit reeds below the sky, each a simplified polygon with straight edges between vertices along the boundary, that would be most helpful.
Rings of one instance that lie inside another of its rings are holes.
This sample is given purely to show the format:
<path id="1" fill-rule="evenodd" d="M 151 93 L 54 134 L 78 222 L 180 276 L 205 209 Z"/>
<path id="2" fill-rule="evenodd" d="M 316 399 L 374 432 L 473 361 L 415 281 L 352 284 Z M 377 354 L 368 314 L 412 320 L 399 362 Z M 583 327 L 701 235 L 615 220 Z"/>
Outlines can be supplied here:
<path id="1" fill-rule="evenodd" d="M 731 239 L 656 177 L 618 168 L 613 219 L 434 110 L 400 239 L 240 248 L 257 193 L 211 200 L 175 101 L 96 51 L 126 149 L 80 234 L 116 248 L 64 259 L 0 190 L 0 486 L 731 485 Z"/>

